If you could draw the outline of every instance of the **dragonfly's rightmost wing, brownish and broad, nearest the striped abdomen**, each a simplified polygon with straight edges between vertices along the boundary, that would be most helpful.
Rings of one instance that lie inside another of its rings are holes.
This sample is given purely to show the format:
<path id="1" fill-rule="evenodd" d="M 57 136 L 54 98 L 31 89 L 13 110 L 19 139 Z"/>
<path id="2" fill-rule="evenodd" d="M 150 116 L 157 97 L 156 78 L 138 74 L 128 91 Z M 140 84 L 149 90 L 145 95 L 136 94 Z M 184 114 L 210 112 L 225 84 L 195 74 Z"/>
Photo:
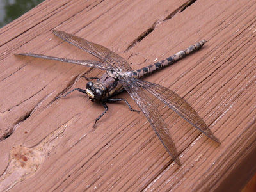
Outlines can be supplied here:
<path id="1" fill-rule="evenodd" d="M 204 120 L 202 120 L 198 113 L 196 113 L 195 109 L 193 109 L 191 105 L 186 102 L 185 99 L 180 97 L 177 93 L 159 84 L 134 78 L 132 78 L 132 80 L 134 81 L 134 83 L 138 84 L 138 86 L 144 88 L 152 95 L 157 97 L 157 99 L 161 100 L 161 102 L 173 109 L 173 111 L 178 113 L 180 116 L 186 119 L 190 124 L 194 125 L 197 129 L 202 131 L 209 138 L 220 143 L 218 138 L 216 138 L 216 136 L 214 136 L 214 134 L 212 133 L 211 129 L 207 127 Z"/>

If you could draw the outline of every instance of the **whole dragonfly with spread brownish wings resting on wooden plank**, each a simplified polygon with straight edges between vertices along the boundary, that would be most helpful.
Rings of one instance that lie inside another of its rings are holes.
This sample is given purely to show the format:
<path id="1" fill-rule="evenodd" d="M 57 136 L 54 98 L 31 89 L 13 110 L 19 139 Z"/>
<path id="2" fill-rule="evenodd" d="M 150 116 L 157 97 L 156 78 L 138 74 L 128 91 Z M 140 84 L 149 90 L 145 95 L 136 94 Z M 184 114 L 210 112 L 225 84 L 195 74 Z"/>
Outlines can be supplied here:
<path id="1" fill-rule="evenodd" d="M 52 32 L 54 35 L 60 37 L 69 44 L 75 45 L 76 47 L 92 54 L 96 58 L 99 58 L 100 61 L 73 60 L 34 53 L 20 53 L 17 55 L 74 63 L 77 65 L 84 65 L 87 67 L 106 70 L 106 72 L 100 78 L 84 76 L 87 80 L 97 79 L 88 81 L 86 84 L 86 89 L 75 88 L 70 90 L 70 92 L 66 93 L 65 95 L 56 98 L 59 99 L 61 97 L 66 97 L 69 93 L 77 90 L 81 93 L 85 93 L 88 96 L 88 99 L 90 99 L 92 102 L 101 102 L 105 110 L 95 120 L 93 127 L 95 127 L 97 121 L 106 113 L 106 111 L 108 111 L 108 106 L 106 104 L 108 102 L 124 101 L 127 106 L 129 106 L 131 111 L 137 111 L 131 108 L 127 100 L 122 98 L 114 98 L 115 95 L 126 90 L 132 99 L 136 102 L 136 104 L 138 104 L 139 108 L 147 117 L 148 122 L 159 137 L 159 140 L 161 140 L 167 152 L 179 166 L 181 166 L 181 163 L 177 148 L 175 147 L 175 143 L 169 134 L 166 123 L 164 122 L 162 116 L 159 113 L 159 110 L 157 109 L 157 105 L 154 103 L 154 99 L 159 99 L 161 102 L 163 102 L 163 104 L 182 116 L 182 118 L 187 120 L 190 124 L 195 126 L 206 136 L 220 143 L 218 138 L 216 138 L 216 136 L 214 136 L 212 133 L 211 129 L 207 127 L 204 120 L 200 118 L 195 109 L 193 109 L 193 107 L 185 99 L 180 97 L 172 90 L 165 88 L 164 86 L 141 80 L 141 77 L 145 77 L 163 67 L 172 65 L 188 54 L 191 54 L 191 52 L 197 51 L 205 44 L 205 40 L 201 40 L 200 42 L 189 46 L 187 49 L 173 54 L 165 60 L 158 61 L 139 70 L 131 70 L 129 63 L 124 58 L 122 58 L 122 56 L 119 56 L 115 52 L 102 45 L 95 44 L 85 40 L 84 38 L 71 35 L 64 31 L 53 30 Z M 154 99 L 150 97 L 152 95 L 154 96 Z"/>

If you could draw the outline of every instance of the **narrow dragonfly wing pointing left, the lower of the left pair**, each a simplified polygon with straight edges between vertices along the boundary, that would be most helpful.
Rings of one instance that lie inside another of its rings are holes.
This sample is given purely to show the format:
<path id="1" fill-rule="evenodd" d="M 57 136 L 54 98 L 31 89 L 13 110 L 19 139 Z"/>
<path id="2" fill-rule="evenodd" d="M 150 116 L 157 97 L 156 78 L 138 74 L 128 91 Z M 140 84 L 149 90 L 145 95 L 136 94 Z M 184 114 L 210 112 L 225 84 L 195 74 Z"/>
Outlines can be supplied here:
<path id="1" fill-rule="evenodd" d="M 94 68 L 100 68 L 102 70 L 111 70 L 112 68 L 106 66 L 104 63 L 101 63 L 99 61 L 92 61 L 92 60 L 71 60 L 71 59 L 65 59 L 65 58 L 57 58 L 52 56 L 45 56 L 44 54 L 34 54 L 34 53 L 19 53 L 17 55 L 22 56 L 31 56 L 34 58 L 42 58 L 47 60 L 56 60 L 61 62 L 67 62 L 67 63 L 74 63 L 78 65 L 84 65 L 88 67 L 94 67 Z"/>

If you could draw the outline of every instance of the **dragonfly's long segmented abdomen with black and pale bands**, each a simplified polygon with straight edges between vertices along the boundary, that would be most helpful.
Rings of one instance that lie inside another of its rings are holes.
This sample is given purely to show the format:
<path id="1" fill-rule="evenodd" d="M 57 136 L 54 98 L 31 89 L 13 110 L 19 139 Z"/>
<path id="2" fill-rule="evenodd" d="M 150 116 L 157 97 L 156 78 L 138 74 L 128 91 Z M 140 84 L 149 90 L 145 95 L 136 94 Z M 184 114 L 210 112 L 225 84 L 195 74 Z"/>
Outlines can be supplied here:
<path id="1" fill-rule="evenodd" d="M 201 40 L 200 42 L 196 43 L 195 45 L 190 45 L 187 49 L 177 52 L 176 54 L 173 54 L 173 56 L 170 56 L 170 57 L 166 58 L 165 60 L 158 61 L 157 63 L 154 63 L 147 67 L 143 67 L 139 70 L 131 70 L 126 73 L 128 76 L 134 77 L 136 79 L 139 79 L 148 74 L 152 74 L 153 72 L 156 72 L 156 70 L 159 70 L 168 65 L 172 65 L 176 61 L 181 60 L 182 58 L 184 58 L 191 52 L 197 51 L 205 44 L 205 42 L 206 42 L 205 40 Z"/>

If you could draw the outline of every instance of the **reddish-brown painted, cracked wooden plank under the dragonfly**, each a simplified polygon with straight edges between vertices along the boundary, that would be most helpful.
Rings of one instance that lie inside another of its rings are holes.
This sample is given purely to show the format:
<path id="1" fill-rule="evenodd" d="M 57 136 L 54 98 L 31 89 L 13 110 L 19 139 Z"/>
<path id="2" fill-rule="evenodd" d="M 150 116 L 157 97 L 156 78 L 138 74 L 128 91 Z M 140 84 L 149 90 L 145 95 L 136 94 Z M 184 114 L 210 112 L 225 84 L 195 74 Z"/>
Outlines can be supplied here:
<path id="1" fill-rule="evenodd" d="M 193 2 L 49 0 L 1 28 L 0 191 L 240 191 L 256 170 L 256 3 Z M 172 114 L 179 167 L 124 103 L 109 104 L 93 129 L 100 104 L 82 93 L 54 101 L 84 88 L 89 68 L 13 55 L 95 59 L 52 29 L 102 44 L 134 69 L 208 40 L 147 81 L 187 99 L 221 145 Z"/>

